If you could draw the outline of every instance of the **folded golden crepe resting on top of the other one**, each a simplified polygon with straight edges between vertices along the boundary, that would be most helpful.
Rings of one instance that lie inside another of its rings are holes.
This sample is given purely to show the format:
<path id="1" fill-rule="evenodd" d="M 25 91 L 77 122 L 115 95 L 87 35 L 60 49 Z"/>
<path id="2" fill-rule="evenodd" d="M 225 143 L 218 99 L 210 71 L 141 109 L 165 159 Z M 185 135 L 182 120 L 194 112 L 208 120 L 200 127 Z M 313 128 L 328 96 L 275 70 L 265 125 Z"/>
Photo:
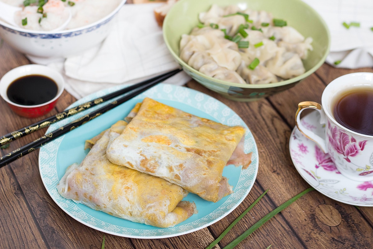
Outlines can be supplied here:
<path id="1" fill-rule="evenodd" d="M 113 164 L 161 177 L 212 202 L 232 193 L 222 173 L 228 161 L 242 162 L 243 168 L 250 164 L 251 154 L 243 153 L 243 127 L 229 127 L 149 98 L 134 110 L 131 122 L 107 147 Z M 238 144 L 241 149 L 232 156 Z"/>

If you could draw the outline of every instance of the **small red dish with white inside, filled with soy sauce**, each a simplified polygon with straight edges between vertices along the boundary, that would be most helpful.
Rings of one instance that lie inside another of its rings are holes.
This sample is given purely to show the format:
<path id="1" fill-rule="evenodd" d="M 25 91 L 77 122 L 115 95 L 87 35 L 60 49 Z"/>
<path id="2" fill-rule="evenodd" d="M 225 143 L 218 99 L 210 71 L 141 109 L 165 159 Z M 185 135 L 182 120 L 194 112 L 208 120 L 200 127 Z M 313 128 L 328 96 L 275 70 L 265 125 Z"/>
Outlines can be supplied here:
<path id="1" fill-rule="evenodd" d="M 37 64 L 19 66 L 0 80 L 0 96 L 10 109 L 26 118 L 36 118 L 50 112 L 65 87 L 56 70 Z"/>

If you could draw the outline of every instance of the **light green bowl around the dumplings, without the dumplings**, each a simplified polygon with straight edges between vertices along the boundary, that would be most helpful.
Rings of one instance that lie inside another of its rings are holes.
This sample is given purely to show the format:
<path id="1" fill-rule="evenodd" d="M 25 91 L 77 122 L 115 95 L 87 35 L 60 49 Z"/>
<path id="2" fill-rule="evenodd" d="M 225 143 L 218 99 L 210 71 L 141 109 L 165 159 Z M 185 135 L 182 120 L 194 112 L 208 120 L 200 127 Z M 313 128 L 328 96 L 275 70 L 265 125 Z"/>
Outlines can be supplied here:
<path id="1" fill-rule="evenodd" d="M 303 60 L 305 72 L 295 78 L 270 84 L 239 84 L 217 80 L 202 74 L 179 57 L 179 42 L 182 34 L 189 34 L 199 23 L 198 13 L 210 9 L 211 4 L 226 6 L 246 4 L 248 9 L 265 10 L 274 18 L 284 19 L 304 37 L 312 37 L 313 50 Z M 179 0 L 169 10 L 163 22 L 163 38 L 171 55 L 182 69 L 205 87 L 236 101 L 253 101 L 271 96 L 294 87 L 313 74 L 324 62 L 329 53 L 330 34 L 322 17 L 301 0 Z"/>

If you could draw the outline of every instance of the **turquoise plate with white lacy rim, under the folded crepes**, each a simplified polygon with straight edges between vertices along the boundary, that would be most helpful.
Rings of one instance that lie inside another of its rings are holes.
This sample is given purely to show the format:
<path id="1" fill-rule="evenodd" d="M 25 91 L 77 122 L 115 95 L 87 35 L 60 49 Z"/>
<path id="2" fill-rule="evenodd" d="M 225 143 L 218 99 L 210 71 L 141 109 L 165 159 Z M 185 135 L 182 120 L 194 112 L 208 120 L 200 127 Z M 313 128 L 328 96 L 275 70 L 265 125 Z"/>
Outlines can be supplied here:
<path id="1" fill-rule="evenodd" d="M 97 93 L 78 100 L 69 106 L 69 108 L 96 99 L 97 97 L 111 93 L 119 88 L 120 87 L 113 87 L 98 91 Z M 96 211 L 85 205 L 63 198 L 57 192 L 56 188 L 60 179 L 65 174 L 66 168 L 73 163 L 80 163 L 85 155 L 87 155 L 88 150 L 84 150 L 85 140 L 109 128 L 117 120 L 123 119 L 135 104 L 141 102 L 144 97 L 150 97 L 166 105 L 181 109 L 182 111 L 211 119 L 225 125 L 241 125 L 245 127 L 244 150 L 245 153 L 253 152 L 252 162 L 248 169 L 241 170 L 241 166 L 235 167 L 233 165 L 225 167 L 223 175 L 229 179 L 229 184 L 233 186 L 234 192 L 232 194 L 224 197 L 219 202 L 213 203 L 203 200 L 195 194 L 189 193 L 184 200 L 195 202 L 198 214 L 194 214 L 175 227 L 158 228 L 113 217 L 112 215 Z M 99 107 L 100 106 L 96 106 L 94 109 Z M 51 125 L 46 133 L 50 133 L 91 111 L 90 109 L 68 119 L 59 121 Z M 81 127 L 41 147 L 39 151 L 39 170 L 44 186 L 54 202 L 75 220 L 88 227 L 117 236 L 157 239 L 179 236 L 200 230 L 219 221 L 232 212 L 233 209 L 245 199 L 254 185 L 258 172 L 258 149 L 253 134 L 250 132 L 245 122 L 222 102 L 204 93 L 186 87 L 159 84 L 138 95 L 134 99 L 123 103 L 115 109 L 98 116 Z"/>

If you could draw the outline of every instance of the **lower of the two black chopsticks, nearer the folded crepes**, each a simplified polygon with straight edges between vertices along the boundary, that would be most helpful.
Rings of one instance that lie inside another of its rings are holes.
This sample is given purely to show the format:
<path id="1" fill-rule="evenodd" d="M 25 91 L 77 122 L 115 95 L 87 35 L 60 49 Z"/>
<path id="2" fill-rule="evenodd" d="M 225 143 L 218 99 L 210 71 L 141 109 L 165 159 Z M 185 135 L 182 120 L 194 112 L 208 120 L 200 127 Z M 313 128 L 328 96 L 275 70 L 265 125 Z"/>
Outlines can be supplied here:
<path id="1" fill-rule="evenodd" d="M 68 133 L 69 131 L 85 124 L 86 122 L 102 115 L 103 113 L 115 108 L 116 106 L 121 105 L 122 103 L 126 102 L 129 99 L 132 99 L 133 97 L 137 96 L 138 94 L 144 92 L 145 90 L 148 90 L 149 88 L 153 87 L 154 85 L 166 80 L 167 78 L 171 77 L 172 75 L 177 74 L 180 72 L 181 69 L 175 69 L 171 72 L 168 72 L 166 74 L 163 74 L 159 77 L 155 77 L 155 79 L 147 80 L 145 81 L 145 84 L 142 83 L 138 89 L 132 91 L 131 93 L 126 94 L 125 96 L 122 96 L 118 98 L 117 100 L 114 100 L 113 102 L 104 105 L 101 108 L 98 108 L 97 110 L 88 113 L 87 115 L 82 116 L 81 118 L 78 118 L 69 124 L 58 128 L 57 130 L 52 131 L 51 133 L 45 134 L 44 136 L 38 138 L 37 140 L 32 141 L 29 144 L 26 144 L 25 146 L 22 146 L 16 150 L 13 150 L 12 152 L 8 153 L 7 155 L 0 157 L 0 168 L 9 164 L 10 162 L 13 162 L 19 158 L 21 158 L 24 155 L 27 155 L 28 153 L 40 148 L 41 146 L 47 144 L 48 142 Z M 137 84 L 138 85 L 138 84 Z M 88 109 L 88 108 L 86 108 Z"/>

